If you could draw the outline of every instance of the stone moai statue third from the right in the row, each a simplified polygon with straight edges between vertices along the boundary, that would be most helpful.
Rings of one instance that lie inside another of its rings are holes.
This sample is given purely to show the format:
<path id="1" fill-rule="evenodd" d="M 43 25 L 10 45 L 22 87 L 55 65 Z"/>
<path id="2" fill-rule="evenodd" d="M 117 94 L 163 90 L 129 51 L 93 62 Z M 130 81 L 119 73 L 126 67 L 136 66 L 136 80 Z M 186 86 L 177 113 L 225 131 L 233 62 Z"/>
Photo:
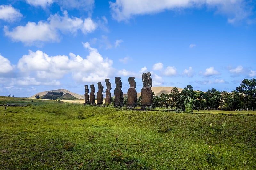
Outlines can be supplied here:
<path id="1" fill-rule="evenodd" d="M 115 94 L 115 107 L 118 106 L 123 106 L 123 102 L 124 102 L 124 96 L 123 96 L 123 92 L 122 92 L 122 81 L 121 81 L 121 77 L 115 77 L 115 83 L 116 83 L 116 88 L 114 90 L 114 94 Z"/>

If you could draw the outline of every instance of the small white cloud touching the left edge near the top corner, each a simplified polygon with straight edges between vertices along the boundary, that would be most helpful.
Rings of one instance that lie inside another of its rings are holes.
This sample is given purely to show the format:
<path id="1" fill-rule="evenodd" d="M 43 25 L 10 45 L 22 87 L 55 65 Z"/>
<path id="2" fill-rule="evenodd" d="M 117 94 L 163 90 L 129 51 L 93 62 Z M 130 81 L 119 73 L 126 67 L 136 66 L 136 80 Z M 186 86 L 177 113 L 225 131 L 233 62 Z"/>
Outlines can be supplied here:
<path id="1" fill-rule="evenodd" d="M 23 17 L 23 15 L 11 5 L 0 5 L 0 19 L 13 22 L 20 20 L 21 17 Z"/>

